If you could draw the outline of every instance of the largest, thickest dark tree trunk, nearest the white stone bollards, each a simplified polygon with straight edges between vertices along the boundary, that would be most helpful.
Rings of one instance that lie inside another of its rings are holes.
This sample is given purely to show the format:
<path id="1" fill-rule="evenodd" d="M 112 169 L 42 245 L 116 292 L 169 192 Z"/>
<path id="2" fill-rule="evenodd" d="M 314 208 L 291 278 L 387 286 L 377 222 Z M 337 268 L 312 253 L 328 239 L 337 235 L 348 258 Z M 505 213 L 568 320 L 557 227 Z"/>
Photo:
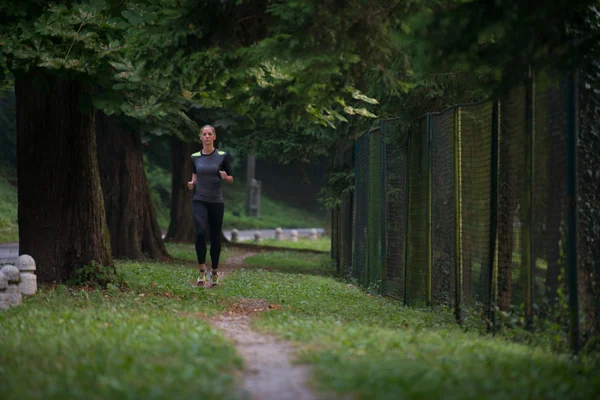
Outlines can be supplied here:
<path id="1" fill-rule="evenodd" d="M 43 70 L 16 79 L 19 250 L 40 282 L 64 282 L 92 260 L 112 265 L 86 90 Z"/>

